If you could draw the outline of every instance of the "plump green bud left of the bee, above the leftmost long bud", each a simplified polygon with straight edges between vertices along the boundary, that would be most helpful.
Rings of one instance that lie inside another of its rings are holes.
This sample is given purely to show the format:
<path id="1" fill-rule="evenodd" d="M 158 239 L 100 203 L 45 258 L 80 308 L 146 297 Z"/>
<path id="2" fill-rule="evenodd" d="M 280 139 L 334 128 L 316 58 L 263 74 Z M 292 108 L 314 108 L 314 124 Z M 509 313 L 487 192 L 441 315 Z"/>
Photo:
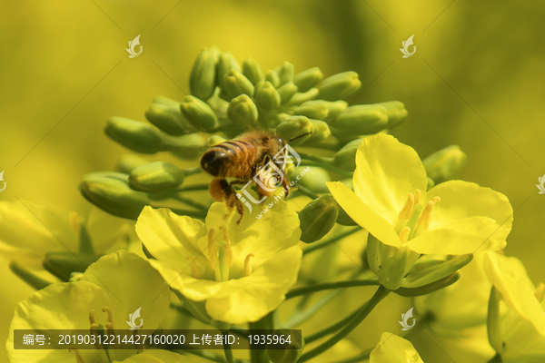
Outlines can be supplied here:
<path id="1" fill-rule="evenodd" d="M 134 191 L 172 191 L 183 183 L 183 170 L 170 162 L 150 162 L 129 175 L 129 186 Z"/>

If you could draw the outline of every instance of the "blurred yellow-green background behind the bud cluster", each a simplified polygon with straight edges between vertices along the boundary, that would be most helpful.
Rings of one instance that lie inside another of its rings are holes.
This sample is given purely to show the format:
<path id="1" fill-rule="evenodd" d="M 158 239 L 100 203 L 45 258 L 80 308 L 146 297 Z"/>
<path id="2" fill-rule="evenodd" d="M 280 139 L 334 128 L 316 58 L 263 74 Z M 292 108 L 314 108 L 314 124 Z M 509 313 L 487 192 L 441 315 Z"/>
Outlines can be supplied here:
<path id="1" fill-rule="evenodd" d="M 282 61 L 296 73 L 353 70 L 362 80 L 354 103 L 405 103 L 409 118 L 391 133 L 422 158 L 459 144 L 467 153 L 461 179 L 513 205 L 506 253 L 545 281 L 545 195 L 534 186 L 545 173 L 543 15 L 538 1 L 4 1 L 0 201 L 85 215 L 81 176 L 112 170 L 124 153 L 104 136 L 105 121 L 144 121 L 155 95 L 181 100 L 195 57 L 215 44 L 263 70 Z M 143 53 L 129 59 L 125 48 L 138 34 Z M 403 59 L 411 34 L 417 51 Z M 15 303 L 31 289 L 4 265 L 0 281 L 4 362 Z"/>

